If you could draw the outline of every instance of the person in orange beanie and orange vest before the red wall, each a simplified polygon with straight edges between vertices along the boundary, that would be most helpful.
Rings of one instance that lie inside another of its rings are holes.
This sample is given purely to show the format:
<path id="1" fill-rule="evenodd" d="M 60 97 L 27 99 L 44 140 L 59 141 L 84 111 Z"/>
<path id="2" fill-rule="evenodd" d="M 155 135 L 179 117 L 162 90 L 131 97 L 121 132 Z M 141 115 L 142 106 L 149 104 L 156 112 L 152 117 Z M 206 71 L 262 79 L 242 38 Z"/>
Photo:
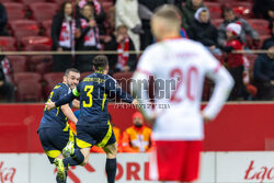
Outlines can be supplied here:
<path id="1" fill-rule="evenodd" d="M 144 124 L 139 112 L 134 113 L 133 124 L 123 133 L 123 152 L 148 152 L 151 148 L 151 129 Z"/>

